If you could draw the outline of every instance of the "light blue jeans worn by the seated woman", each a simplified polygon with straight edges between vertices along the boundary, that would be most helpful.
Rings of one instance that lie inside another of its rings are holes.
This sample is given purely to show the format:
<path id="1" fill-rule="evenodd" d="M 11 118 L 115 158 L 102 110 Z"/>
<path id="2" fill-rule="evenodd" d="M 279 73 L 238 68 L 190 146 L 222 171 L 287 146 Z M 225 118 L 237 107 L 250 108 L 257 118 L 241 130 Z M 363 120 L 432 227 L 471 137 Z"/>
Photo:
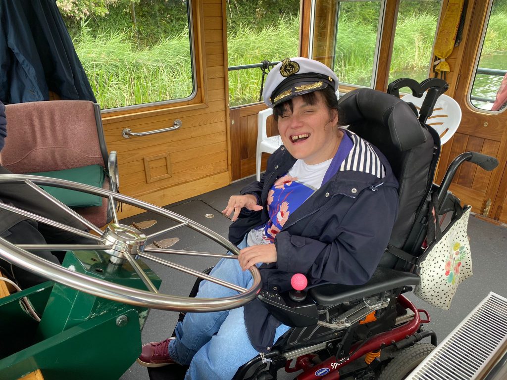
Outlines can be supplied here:
<path id="1" fill-rule="evenodd" d="M 246 238 L 238 248 L 246 247 Z M 222 259 L 211 276 L 248 288 L 253 283 L 249 271 L 242 271 L 236 259 Z M 237 291 L 202 281 L 197 297 L 218 298 Z M 274 341 L 289 329 L 281 324 Z M 169 355 L 179 364 L 190 365 L 185 380 L 231 379 L 237 369 L 259 355 L 246 333 L 243 308 L 213 313 L 187 313 L 176 325 L 176 339 L 169 344 Z M 274 343 L 274 342 L 273 342 Z"/>

